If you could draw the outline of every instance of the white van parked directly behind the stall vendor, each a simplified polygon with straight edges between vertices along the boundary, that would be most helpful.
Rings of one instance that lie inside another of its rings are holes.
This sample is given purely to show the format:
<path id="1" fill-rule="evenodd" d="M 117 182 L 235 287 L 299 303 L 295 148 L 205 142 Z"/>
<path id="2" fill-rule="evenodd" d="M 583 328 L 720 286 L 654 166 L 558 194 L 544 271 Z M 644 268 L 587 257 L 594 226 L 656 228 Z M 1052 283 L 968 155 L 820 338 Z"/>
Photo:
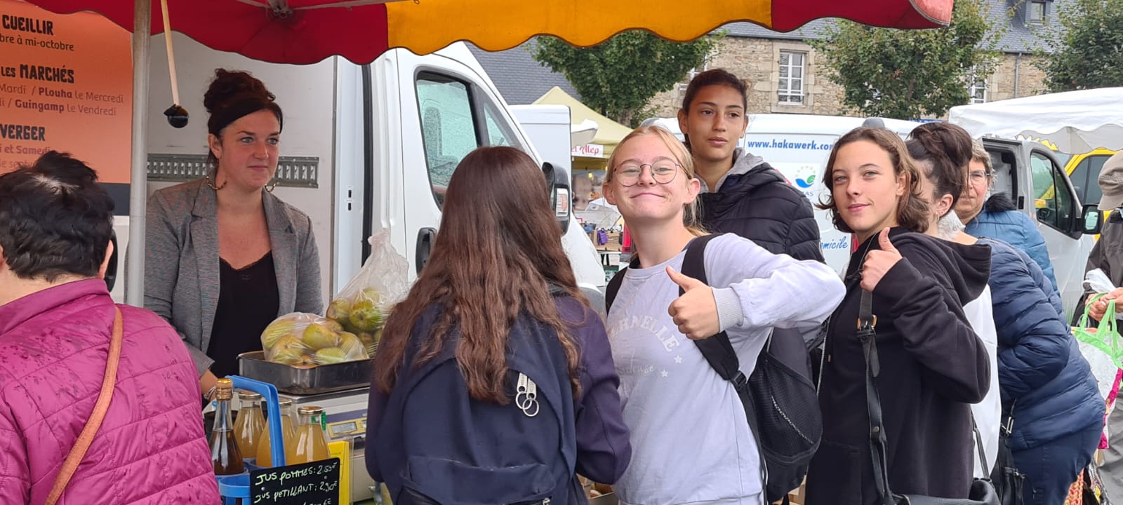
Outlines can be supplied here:
<path id="1" fill-rule="evenodd" d="M 514 146 L 541 160 L 491 79 L 459 43 L 424 56 L 393 49 L 369 65 L 339 57 L 312 65 L 263 63 L 207 48 L 179 33 L 173 44 L 180 95 L 192 116 L 183 129 L 163 121 L 172 92 L 163 37 L 153 38 L 149 194 L 207 171 L 202 97 L 214 68 L 253 73 L 285 113 L 275 194 L 312 219 L 325 300 L 358 272 L 368 252 L 365 239 L 378 229 L 390 230 L 394 248 L 410 263 L 410 278 L 416 277 L 440 223 L 445 185 L 472 149 Z M 565 227 L 569 176 L 564 169 L 554 172 Z M 128 247 L 127 226 L 125 218 L 116 230 L 121 250 Z M 594 303 L 603 304 L 597 252 L 579 227 L 565 228 L 562 241 L 577 282 Z M 117 300 L 122 299 L 121 281 L 113 287 Z"/>

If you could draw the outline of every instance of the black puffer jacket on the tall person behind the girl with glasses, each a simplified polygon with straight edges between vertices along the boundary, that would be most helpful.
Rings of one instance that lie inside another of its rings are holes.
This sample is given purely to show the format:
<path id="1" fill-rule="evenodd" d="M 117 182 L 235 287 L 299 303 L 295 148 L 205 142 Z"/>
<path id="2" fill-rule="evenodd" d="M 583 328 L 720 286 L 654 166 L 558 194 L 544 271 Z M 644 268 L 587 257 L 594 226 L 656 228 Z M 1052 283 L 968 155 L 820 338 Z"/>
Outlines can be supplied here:
<path id="1" fill-rule="evenodd" d="M 751 167 L 743 172 L 745 165 Z M 718 192 L 700 198 L 707 230 L 737 233 L 773 254 L 823 260 L 811 202 L 759 157 L 737 149 Z"/>

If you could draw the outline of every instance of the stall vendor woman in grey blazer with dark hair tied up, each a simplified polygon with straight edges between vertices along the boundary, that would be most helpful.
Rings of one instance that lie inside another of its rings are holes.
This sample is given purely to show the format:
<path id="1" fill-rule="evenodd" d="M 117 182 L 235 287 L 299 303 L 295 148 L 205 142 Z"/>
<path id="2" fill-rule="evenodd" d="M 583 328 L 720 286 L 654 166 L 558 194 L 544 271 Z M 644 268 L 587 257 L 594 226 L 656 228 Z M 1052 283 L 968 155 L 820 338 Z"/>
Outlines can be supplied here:
<path id="1" fill-rule="evenodd" d="M 148 199 L 145 307 L 179 331 L 203 392 L 291 312 L 320 313 L 320 257 L 307 214 L 273 195 L 281 107 L 245 72 L 214 71 L 207 177 Z"/>

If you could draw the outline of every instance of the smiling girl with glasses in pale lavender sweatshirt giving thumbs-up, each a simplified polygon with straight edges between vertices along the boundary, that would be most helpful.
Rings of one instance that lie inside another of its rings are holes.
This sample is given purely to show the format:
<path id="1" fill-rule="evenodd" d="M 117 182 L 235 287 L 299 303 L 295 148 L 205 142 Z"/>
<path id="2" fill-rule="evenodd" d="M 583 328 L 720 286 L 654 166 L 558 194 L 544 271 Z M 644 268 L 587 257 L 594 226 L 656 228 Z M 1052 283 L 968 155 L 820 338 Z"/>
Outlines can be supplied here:
<path id="1" fill-rule="evenodd" d="M 631 431 L 631 463 L 613 486 L 626 504 L 763 503 L 741 401 L 690 340 L 724 331 L 750 375 L 772 327 L 816 325 L 842 296 L 830 267 L 731 233 L 705 246 L 709 284 L 681 274 L 687 245 L 705 235 L 699 187 L 690 153 L 659 127 L 632 131 L 609 159 L 604 196 L 628 222 L 638 258 L 608 324 Z"/>

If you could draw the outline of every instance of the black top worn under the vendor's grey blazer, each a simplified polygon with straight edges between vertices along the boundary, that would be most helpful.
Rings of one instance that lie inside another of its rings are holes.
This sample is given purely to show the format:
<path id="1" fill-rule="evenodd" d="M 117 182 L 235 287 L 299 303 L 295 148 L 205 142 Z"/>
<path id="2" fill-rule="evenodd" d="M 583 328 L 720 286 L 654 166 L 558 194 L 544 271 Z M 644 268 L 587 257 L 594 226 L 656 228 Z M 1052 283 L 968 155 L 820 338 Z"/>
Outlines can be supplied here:
<path id="1" fill-rule="evenodd" d="M 214 360 L 211 373 L 226 377 L 238 373 L 238 355 L 262 350 L 262 332 L 277 318 L 277 291 L 273 252 L 240 269 L 219 259 L 218 309 L 207 356 Z"/>

